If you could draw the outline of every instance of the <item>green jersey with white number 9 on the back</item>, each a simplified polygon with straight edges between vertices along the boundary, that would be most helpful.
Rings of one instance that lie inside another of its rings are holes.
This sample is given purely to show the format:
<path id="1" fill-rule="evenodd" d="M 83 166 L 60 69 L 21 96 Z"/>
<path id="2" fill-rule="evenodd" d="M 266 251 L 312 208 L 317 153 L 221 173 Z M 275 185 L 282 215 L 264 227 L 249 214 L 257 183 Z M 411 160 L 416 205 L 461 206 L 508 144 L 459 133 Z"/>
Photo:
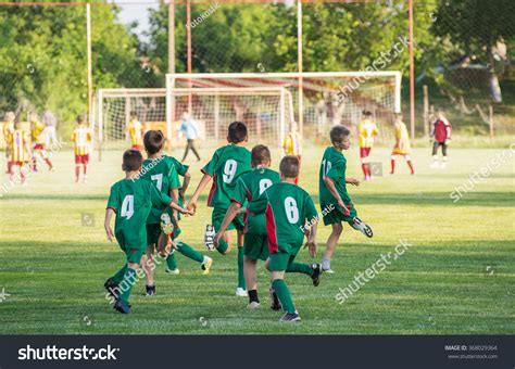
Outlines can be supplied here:
<path id="1" fill-rule="evenodd" d="M 213 177 L 208 206 L 229 207 L 236 180 L 252 170 L 250 158 L 250 151 L 236 144 L 228 144 L 215 151 L 211 161 L 202 168 L 202 173 Z"/>

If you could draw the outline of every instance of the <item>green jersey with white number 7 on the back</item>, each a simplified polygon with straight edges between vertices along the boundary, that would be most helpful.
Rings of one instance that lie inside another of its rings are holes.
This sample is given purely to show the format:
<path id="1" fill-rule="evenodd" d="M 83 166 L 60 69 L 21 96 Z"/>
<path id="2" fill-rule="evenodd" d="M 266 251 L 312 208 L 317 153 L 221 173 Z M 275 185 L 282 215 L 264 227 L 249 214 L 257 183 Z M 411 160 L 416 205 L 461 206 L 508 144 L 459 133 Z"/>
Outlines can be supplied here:
<path id="1" fill-rule="evenodd" d="M 140 178 L 145 181 L 152 182 L 161 193 L 169 195 L 169 190 L 180 188 L 175 158 L 166 155 L 156 158 L 148 158 L 143 161 L 142 166 L 145 173 Z M 163 214 L 164 209 L 163 206 L 152 208 L 147 224 L 155 225 L 161 222 L 161 214 Z"/>

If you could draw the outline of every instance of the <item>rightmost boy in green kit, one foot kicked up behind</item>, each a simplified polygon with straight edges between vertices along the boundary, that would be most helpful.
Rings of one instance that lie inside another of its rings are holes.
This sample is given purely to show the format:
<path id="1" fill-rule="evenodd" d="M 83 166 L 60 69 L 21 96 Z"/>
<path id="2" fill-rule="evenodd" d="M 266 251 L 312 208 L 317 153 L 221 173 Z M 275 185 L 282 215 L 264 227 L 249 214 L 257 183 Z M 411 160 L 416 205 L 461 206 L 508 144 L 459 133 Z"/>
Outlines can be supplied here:
<path id="1" fill-rule="evenodd" d="M 347 192 L 347 183 L 360 186 L 355 178 L 347 178 L 347 158 L 343 150 L 351 147 L 350 130 L 341 125 L 330 130 L 331 147 L 324 151 L 319 170 L 319 201 L 324 216 L 324 226 L 331 225 L 331 233 L 327 239 L 326 252 L 322 259 L 324 272 L 334 272 L 330 268 L 330 259 L 336 244 L 340 239 L 343 227 L 342 221 L 366 237 L 373 237 L 372 228 L 357 217 L 356 208 Z"/>

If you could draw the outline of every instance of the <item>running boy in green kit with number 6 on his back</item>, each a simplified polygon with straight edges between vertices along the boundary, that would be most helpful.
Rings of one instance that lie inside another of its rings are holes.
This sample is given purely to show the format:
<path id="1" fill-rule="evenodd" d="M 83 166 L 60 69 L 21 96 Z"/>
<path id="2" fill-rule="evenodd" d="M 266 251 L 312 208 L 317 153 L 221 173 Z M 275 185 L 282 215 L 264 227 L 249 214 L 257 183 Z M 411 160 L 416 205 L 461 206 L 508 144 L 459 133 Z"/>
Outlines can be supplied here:
<path id="1" fill-rule="evenodd" d="M 280 161 L 280 182 L 272 184 L 256 200 L 247 206 L 250 216 L 265 214 L 269 258 L 267 269 L 272 271 L 272 289 L 286 314 L 280 321 L 298 321 L 290 290 L 285 282 L 285 272 L 302 272 L 311 276 L 313 285 L 321 282 L 319 264 L 296 263 L 304 236 L 312 257 L 316 255 L 316 227 L 318 214 L 310 194 L 296 186 L 299 175 L 299 158 L 285 156 Z"/>

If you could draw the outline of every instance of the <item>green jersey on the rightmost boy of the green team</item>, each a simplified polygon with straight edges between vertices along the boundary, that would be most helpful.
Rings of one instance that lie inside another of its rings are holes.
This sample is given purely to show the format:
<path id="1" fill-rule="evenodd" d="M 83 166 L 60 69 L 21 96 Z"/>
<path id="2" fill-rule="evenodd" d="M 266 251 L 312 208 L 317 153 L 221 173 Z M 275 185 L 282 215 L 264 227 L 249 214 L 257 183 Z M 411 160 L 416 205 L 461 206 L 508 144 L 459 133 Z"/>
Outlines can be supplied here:
<path id="1" fill-rule="evenodd" d="M 319 171 L 319 200 L 321 206 L 328 204 L 338 204 L 338 201 L 330 193 L 324 179 L 329 177 L 335 181 L 335 187 L 340 196 L 348 198 L 347 184 L 346 184 L 346 169 L 347 158 L 341 152 L 336 150 L 334 147 L 329 147 L 324 152 L 322 157 L 321 171 Z"/>

